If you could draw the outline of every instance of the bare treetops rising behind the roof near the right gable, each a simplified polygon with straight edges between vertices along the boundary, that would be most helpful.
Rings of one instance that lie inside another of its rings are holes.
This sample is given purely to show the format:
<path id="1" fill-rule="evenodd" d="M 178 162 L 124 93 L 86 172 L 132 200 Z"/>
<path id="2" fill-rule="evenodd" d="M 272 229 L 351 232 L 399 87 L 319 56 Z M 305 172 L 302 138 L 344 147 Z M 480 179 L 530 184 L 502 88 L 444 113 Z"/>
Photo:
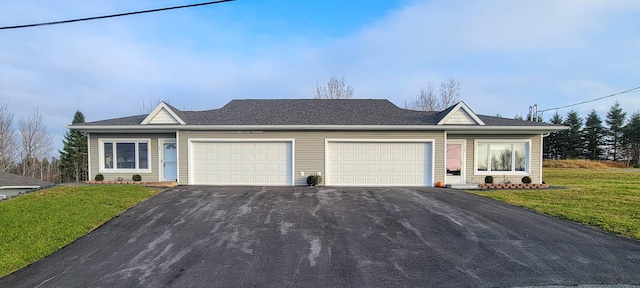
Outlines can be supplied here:
<path id="1" fill-rule="evenodd" d="M 433 84 L 429 82 L 427 88 L 420 89 L 420 92 L 413 101 L 404 101 L 405 109 L 418 111 L 439 111 L 457 102 L 460 102 L 460 82 L 449 79 L 440 83 L 440 93 L 436 95 Z"/>

